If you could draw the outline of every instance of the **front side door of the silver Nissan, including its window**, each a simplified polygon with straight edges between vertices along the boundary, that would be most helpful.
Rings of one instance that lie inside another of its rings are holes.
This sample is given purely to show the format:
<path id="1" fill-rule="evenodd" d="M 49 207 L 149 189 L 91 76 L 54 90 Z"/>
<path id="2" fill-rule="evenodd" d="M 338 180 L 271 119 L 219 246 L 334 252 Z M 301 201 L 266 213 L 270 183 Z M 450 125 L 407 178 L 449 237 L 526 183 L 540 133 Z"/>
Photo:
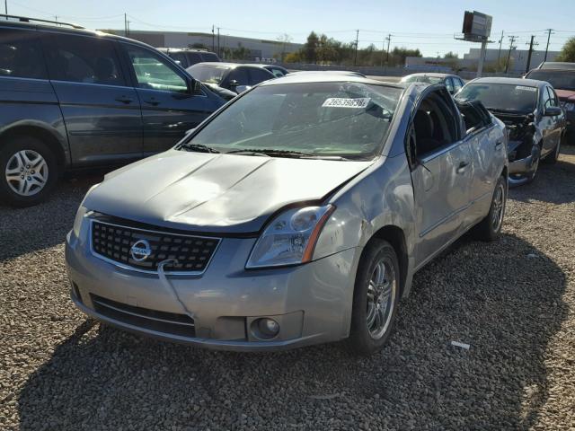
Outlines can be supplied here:
<path id="1" fill-rule="evenodd" d="M 426 92 L 412 122 L 417 163 L 411 180 L 416 202 L 418 266 L 464 230 L 473 163 L 470 145 L 445 90 Z M 451 103 L 453 103 L 451 101 Z"/>

